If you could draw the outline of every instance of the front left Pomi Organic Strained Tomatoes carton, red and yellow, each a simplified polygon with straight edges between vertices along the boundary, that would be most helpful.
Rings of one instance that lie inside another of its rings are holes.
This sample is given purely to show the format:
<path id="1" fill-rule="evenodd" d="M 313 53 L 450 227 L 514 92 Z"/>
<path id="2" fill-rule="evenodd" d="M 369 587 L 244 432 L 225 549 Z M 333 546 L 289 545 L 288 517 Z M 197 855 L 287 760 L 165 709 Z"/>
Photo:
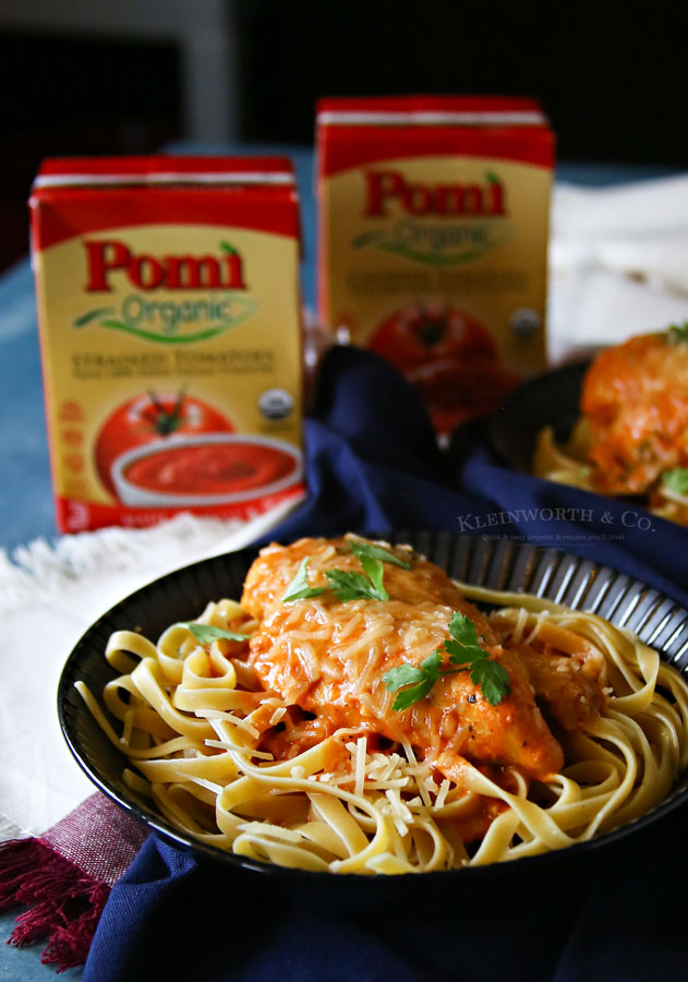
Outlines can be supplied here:
<path id="1" fill-rule="evenodd" d="M 301 494 L 290 163 L 46 160 L 29 207 L 60 530 Z"/>

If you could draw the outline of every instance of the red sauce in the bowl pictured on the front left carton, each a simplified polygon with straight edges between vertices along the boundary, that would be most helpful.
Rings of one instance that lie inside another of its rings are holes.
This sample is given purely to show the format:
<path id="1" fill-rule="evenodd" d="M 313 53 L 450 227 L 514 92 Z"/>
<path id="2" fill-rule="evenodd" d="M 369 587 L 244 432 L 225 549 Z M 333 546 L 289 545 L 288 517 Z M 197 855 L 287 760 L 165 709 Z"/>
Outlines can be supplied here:
<path id="1" fill-rule="evenodd" d="M 261 444 L 200 444 L 159 450 L 126 467 L 126 480 L 148 491 L 232 494 L 263 488 L 295 471 L 290 454 Z"/>

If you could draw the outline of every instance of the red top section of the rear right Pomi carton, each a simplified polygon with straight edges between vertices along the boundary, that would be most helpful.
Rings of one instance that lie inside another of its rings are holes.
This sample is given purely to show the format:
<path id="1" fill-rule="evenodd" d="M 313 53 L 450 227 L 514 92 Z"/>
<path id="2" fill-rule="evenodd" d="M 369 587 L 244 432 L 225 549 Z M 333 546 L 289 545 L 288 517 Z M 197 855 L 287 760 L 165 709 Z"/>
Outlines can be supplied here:
<path id="1" fill-rule="evenodd" d="M 466 154 L 554 166 L 536 99 L 516 96 L 325 98 L 317 104 L 322 177 L 394 157 Z"/>

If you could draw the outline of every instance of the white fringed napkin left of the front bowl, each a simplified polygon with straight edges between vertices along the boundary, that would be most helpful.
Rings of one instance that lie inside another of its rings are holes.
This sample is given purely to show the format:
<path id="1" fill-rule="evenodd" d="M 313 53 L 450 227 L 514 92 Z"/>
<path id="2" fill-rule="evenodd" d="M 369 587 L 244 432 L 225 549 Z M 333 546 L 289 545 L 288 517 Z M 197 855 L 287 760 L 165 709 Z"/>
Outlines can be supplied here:
<path id="1" fill-rule="evenodd" d="M 60 733 L 64 660 L 106 610 L 152 579 L 266 536 L 293 501 L 252 522 L 178 515 L 0 552 L 0 841 L 41 835 L 93 792 Z"/>

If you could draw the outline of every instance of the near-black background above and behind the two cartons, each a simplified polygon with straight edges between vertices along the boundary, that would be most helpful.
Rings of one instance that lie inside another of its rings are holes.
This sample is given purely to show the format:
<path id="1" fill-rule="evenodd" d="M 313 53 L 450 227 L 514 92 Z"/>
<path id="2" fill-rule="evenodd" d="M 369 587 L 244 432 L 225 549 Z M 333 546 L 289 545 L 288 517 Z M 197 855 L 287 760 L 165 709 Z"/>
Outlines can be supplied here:
<path id="1" fill-rule="evenodd" d="M 681 0 L 226 5 L 233 140 L 311 143 L 321 95 L 504 93 L 542 101 L 560 159 L 688 165 Z M 173 43 L 0 26 L 0 268 L 26 251 L 40 158 L 184 139 L 182 84 Z"/>

